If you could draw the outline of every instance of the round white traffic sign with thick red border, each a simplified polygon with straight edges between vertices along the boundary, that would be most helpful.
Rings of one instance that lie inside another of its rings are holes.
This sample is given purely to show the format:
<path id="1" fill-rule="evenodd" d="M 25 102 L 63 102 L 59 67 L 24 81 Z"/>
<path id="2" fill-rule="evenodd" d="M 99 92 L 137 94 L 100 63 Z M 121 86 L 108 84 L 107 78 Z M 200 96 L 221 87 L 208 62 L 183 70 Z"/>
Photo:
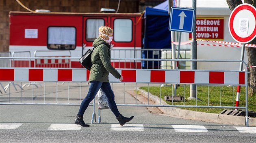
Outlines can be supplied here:
<path id="1" fill-rule="evenodd" d="M 256 8 L 240 4 L 232 11 L 228 21 L 229 32 L 239 43 L 248 43 L 256 36 Z"/>

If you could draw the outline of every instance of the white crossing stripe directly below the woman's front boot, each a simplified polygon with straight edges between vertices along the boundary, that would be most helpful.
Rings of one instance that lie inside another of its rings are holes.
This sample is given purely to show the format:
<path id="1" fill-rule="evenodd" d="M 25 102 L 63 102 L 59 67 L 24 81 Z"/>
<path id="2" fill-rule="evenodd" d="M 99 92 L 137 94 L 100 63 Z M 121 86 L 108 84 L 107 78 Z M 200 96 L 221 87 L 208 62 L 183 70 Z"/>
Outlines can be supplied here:
<path id="1" fill-rule="evenodd" d="M 120 126 L 119 124 L 111 124 L 111 130 L 118 131 L 144 131 L 143 124 L 125 124 Z"/>

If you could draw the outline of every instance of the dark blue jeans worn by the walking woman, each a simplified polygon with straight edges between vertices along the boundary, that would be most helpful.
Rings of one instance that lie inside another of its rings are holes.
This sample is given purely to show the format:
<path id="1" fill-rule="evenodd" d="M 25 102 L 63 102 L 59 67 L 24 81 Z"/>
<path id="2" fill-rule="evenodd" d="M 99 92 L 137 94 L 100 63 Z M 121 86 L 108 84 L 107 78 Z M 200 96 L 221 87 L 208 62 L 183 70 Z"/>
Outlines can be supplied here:
<path id="1" fill-rule="evenodd" d="M 95 95 L 98 93 L 98 90 L 101 88 L 101 90 L 105 93 L 106 98 L 108 99 L 108 105 L 115 114 L 116 117 L 121 115 L 117 109 L 117 105 L 115 103 L 115 95 L 112 92 L 111 86 L 109 82 L 99 82 L 99 81 L 91 81 L 91 86 L 89 88 L 89 91 L 87 93 L 87 96 L 85 99 L 83 99 L 80 109 L 78 111 L 79 115 L 84 115 L 85 110 L 89 106 L 89 103 L 95 98 Z"/>

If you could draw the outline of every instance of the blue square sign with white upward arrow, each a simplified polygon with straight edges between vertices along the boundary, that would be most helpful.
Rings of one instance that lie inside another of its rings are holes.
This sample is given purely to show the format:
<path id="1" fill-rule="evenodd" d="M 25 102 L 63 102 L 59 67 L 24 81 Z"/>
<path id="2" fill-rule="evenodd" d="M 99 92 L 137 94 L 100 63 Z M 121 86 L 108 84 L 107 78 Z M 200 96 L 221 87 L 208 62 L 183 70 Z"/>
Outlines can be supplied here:
<path id="1" fill-rule="evenodd" d="M 193 32 L 194 19 L 194 9 L 171 7 L 169 30 L 191 33 Z"/>

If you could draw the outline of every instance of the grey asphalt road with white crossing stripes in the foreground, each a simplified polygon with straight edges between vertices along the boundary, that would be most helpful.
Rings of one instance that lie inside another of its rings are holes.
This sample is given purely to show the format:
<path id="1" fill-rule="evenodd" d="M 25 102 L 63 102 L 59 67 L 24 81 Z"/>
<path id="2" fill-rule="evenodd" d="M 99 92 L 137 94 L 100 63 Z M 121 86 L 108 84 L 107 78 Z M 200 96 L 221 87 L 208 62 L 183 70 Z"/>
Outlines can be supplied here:
<path id="1" fill-rule="evenodd" d="M 128 86 L 126 88 L 128 89 Z M 121 93 L 124 88 L 114 89 L 116 89 L 117 103 L 124 102 L 124 95 Z M 127 103 L 135 100 L 127 94 L 125 98 Z M 256 127 L 236 127 L 230 124 L 174 118 L 162 114 L 156 107 L 149 107 L 149 110 L 147 107 L 120 106 L 119 111 L 124 116 L 135 116 L 131 122 L 120 127 L 110 109 L 101 110 L 100 124 L 91 124 L 92 107 L 89 106 L 84 120 L 90 127 L 81 127 L 73 124 L 78 109 L 79 106 L 76 105 L 0 105 L 0 142 L 255 143 L 256 141 Z M 98 118 L 98 110 L 96 117 Z"/>

